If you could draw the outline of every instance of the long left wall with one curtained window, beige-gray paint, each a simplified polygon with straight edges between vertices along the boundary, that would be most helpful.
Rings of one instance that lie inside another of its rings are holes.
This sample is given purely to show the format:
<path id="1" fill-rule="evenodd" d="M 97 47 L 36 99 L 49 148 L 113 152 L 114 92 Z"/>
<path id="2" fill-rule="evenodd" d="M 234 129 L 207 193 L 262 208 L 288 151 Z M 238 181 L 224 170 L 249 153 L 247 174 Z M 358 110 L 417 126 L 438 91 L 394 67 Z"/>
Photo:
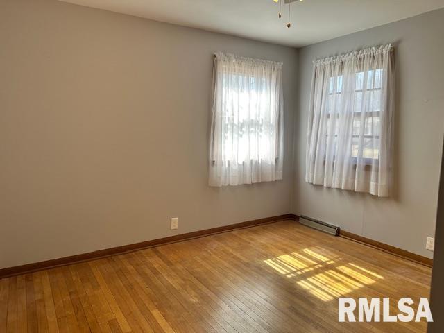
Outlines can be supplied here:
<path id="1" fill-rule="evenodd" d="M 214 51 L 284 62 L 283 181 L 207 186 Z M 0 268 L 289 213 L 296 67 L 283 46 L 0 0 Z"/>

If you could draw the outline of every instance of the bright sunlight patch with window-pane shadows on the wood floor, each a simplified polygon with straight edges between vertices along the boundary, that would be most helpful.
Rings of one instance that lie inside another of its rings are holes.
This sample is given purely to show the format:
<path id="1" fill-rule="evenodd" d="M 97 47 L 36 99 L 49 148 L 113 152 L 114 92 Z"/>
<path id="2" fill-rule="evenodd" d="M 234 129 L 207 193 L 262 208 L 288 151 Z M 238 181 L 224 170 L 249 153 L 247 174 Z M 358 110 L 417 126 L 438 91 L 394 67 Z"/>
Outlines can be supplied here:
<path id="1" fill-rule="evenodd" d="M 325 302 L 384 279 L 368 268 L 351 262 L 344 264 L 336 255 L 327 257 L 327 252 L 322 248 L 304 248 L 264 262 L 287 278 L 296 278 L 298 286 Z"/>

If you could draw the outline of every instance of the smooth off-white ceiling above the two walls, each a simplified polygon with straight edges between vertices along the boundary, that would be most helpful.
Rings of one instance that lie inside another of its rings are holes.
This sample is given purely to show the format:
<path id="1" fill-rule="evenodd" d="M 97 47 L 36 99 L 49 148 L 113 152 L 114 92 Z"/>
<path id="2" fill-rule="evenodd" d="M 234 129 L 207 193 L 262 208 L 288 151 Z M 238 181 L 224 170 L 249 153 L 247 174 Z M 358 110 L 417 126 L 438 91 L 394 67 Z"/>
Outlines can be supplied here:
<path id="1" fill-rule="evenodd" d="M 62 0 L 180 26 L 305 46 L 444 7 L 444 0 Z"/>

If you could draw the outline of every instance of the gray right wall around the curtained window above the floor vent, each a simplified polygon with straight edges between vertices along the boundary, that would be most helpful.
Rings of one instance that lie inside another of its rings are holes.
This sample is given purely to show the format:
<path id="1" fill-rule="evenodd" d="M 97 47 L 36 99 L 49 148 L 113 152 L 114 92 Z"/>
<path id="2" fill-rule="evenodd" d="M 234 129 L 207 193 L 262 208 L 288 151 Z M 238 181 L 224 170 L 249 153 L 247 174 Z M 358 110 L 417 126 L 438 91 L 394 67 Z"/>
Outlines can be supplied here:
<path id="1" fill-rule="evenodd" d="M 432 257 L 444 131 L 444 9 L 299 49 L 293 212 Z M 311 62 L 392 42 L 397 62 L 395 188 L 375 198 L 304 181 Z"/>

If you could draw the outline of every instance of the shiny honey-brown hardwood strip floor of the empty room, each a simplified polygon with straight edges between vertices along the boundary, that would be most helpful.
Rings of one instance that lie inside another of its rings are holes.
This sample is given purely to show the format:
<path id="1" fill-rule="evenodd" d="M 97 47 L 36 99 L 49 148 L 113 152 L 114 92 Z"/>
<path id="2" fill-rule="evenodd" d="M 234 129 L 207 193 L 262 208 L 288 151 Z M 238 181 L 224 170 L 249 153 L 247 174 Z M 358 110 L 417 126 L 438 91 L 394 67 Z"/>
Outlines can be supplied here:
<path id="1" fill-rule="evenodd" d="M 429 296 L 431 268 L 295 221 L 0 280 L 0 332 L 425 332 L 337 297 Z M 417 303 L 416 303 L 417 304 Z"/>

